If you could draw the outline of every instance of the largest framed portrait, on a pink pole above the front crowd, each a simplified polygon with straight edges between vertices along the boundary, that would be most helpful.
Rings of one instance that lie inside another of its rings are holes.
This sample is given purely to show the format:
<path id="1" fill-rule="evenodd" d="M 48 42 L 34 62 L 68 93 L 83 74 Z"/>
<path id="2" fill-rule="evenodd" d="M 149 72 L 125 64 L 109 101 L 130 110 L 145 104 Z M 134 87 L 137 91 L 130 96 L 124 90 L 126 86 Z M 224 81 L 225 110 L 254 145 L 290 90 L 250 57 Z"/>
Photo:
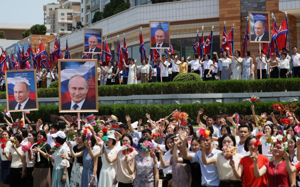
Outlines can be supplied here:
<path id="1" fill-rule="evenodd" d="M 58 60 L 59 112 L 98 112 L 97 59 Z"/>

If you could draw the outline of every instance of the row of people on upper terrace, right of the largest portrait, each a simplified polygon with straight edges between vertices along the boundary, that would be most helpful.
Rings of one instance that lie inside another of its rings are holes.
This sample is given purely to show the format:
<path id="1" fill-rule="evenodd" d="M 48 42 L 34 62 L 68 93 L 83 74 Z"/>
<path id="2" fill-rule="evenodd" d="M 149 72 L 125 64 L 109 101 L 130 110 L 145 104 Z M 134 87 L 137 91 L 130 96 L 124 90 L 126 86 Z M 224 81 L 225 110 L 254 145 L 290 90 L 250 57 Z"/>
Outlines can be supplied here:
<path id="1" fill-rule="evenodd" d="M 284 48 L 279 55 L 277 51 L 270 54 L 264 54 L 258 51 L 257 56 L 250 53 L 249 50 L 245 52 L 245 57 L 241 57 L 241 52 L 236 50 L 234 56 L 230 56 L 227 51 L 213 52 L 205 54 L 204 58 L 199 58 L 196 53 L 193 60 L 189 59 L 191 56 L 185 58 L 178 54 L 163 54 L 157 56 L 156 60 L 149 63 L 149 59 L 142 60 L 142 65 L 136 65 L 137 60 L 128 59 L 128 65 L 123 59 L 124 69 L 118 68 L 117 61 L 99 62 L 98 67 L 98 85 L 113 85 L 113 84 L 137 84 L 137 79 L 140 77 L 141 83 L 149 82 L 169 82 L 181 73 L 196 73 L 206 80 L 229 80 L 229 79 L 254 79 L 254 61 L 257 64 L 257 79 L 260 79 L 260 72 L 262 72 L 262 79 L 269 78 L 290 78 L 291 76 L 300 77 L 300 54 L 297 53 L 297 47 L 292 47 L 292 56 L 289 51 Z M 270 58 L 267 56 L 270 55 Z M 279 58 L 280 56 L 280 58 Z M 107 64 L 106 64 L 107 63 Z M 191 65 L 188 71 L 188 65 Z M 137 74 L 137 69 L 141 70 Z M 260 70 L 261 69 L 261 70 Z M 294 69 L 294 72 L 292 72 Z M 153 80 L 152 80 L 153 79 Z M 162 79 L 162 80 L 161 80 Z"/>

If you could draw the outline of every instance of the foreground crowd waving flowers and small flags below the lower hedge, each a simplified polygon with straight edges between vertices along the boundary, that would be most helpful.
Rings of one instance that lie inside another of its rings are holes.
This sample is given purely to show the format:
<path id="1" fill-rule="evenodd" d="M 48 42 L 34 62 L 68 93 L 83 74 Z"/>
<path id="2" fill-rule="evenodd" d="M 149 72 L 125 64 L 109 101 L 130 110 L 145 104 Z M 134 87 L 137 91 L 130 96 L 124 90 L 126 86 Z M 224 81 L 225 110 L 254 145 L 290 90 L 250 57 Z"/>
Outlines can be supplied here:
<path id="1" fill-rule="evenodd" d="M 115 116 L 88 124 L 80 119 L 81 129 L 62 116 L 52 125 L 26 118 L 26 128 L 12 128 L 4 118 L 0 186 L 158 187 L 160 179 L 163 187 L 299 186 L 297 117 L 287 113 L 280 124 L 273 113 L 271 122 L 266 113 L 257 116 L 253 105 L 252 112 L 252 120 L 235 124 L 233 117 L 206 116 L 201 108 L 198 131 L 175 115 L 153 121 L 147 113 L 147 121 L 133 123 L 130 116 L 124 122 L 113 121 Z M 256 126 L 260 119 L 263 127 Z M 226 146 L 237 153 L 227 158 Z"/>

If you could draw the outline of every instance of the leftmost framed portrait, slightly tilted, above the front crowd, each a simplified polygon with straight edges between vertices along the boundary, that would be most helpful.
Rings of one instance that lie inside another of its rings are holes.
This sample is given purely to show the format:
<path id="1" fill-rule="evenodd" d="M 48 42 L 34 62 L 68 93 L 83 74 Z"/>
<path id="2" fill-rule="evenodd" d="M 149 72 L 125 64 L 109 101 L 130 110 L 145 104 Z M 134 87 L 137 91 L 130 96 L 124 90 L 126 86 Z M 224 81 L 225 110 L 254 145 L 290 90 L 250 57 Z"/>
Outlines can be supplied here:
<path id="1" fill-rule="evenodd" d="M 5 75 L 8 111 L 38 110 L 36 70 L 10 70 Z"/>

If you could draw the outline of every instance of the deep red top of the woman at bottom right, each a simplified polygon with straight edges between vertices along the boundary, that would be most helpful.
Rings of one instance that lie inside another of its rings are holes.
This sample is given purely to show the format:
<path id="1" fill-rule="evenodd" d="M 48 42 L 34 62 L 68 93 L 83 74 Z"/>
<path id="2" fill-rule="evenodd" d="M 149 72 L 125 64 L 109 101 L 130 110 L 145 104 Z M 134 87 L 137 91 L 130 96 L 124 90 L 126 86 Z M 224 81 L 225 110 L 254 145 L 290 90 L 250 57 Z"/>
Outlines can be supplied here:
<path id="1" fill-rule="evenodd" d="M 287 174 L 287 168 L 285 161 L 282 161 L 277 166 L 272 162 L 265 163 L 267 167 L 267 178 L 269 180 L 269 186 L 276 187 L 289 187 L 289 178 Z"/>

